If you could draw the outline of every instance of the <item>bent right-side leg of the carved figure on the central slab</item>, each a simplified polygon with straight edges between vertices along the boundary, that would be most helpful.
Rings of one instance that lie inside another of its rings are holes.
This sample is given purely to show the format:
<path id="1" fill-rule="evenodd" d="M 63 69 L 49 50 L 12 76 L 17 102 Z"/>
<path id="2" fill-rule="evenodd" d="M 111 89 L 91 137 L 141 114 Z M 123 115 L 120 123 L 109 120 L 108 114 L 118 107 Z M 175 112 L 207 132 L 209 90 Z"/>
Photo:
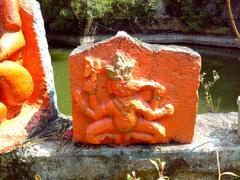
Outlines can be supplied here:
<path id="1" fill-rule="evenodd" d="M 165 136 L 165 128 L 157 122 L 139 119 L 134 132 L 127 136 L 130 140 L 137 142 L 157 143 L 160 138 Z"/>

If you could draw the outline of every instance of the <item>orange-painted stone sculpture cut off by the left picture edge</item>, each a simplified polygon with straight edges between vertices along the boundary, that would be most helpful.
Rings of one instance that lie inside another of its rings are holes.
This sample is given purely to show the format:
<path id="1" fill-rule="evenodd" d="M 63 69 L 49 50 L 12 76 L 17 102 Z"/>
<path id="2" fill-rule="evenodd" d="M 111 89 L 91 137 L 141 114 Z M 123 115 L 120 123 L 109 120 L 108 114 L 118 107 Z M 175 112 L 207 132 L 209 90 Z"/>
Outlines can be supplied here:
<path id="1" fill-rule="evenodd" d="M 0 153 L 53 117 L 34 3 L 0 0 Z"/>

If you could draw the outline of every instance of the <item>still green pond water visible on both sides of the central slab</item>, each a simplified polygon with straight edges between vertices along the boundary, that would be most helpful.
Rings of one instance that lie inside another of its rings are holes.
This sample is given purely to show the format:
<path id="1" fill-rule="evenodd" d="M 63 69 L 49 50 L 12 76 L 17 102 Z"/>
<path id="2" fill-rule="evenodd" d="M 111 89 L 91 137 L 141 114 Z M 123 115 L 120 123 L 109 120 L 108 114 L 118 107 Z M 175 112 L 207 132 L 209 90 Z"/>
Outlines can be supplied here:
<path id="1" fill-rule="evenodd" d="M 71 51 L 72 49 L 66 48 L 50 49 L 58 107 L 60 112 L 66 115 L 71 115 L 71 96 L 67 63 L 68 55 Z M 228 50 L 225 49 L 225 51 L 229 53 Z M 218 55 L 201 54 L 202 72 L 207 73 L 206 80 L 212 80 L 212 70 L 216 70 L 220 76 L 220 79 L 210 90 L 213 102 L 215 106 L 218 104 L 219 111 L 237 111 L 236 99 L 238 95 L 240 95 L 240 60 L 238 60 L 240 56 L 236 55 L 236 53 L 232 56 L 223 56 L 222 54 L 224 54 L 224 52 L 221 50 L 219 50 Z M 199 88 L 199 97 L 198 113 L 208 112 L 202 86 Z"/>

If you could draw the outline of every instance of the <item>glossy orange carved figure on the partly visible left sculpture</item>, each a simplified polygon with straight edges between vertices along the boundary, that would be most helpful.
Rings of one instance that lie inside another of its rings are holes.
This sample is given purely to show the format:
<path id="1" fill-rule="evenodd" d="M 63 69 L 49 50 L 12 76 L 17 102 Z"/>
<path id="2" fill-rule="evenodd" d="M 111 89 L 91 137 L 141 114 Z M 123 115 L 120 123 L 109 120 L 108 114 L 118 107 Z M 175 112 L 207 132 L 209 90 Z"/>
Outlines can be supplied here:
<path id="1" fill-rule="evenodd" d="M 25 38 L 18 0 L 0 0 L 0 123 L 14 117 L 33 92 L 22 59 Z"/>

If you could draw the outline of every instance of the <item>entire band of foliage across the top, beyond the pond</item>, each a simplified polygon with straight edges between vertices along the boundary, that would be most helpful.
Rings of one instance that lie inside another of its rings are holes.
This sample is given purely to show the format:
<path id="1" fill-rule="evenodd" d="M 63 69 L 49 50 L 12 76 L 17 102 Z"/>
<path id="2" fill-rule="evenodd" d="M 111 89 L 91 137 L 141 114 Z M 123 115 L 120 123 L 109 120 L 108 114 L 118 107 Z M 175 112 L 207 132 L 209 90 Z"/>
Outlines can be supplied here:
<path id="1" fill-rule="evenodd" d="M 166 12 L 184 25 L 182 31 L 202 32 L 226 26 L 219 18 L 226 0 L 164 0 Z M 39 0 L 48 30 L 75 34 L 151 33 L 159 25 L 159 0 Z M 164 6 L 165 7 L 165 6 Z"/>

